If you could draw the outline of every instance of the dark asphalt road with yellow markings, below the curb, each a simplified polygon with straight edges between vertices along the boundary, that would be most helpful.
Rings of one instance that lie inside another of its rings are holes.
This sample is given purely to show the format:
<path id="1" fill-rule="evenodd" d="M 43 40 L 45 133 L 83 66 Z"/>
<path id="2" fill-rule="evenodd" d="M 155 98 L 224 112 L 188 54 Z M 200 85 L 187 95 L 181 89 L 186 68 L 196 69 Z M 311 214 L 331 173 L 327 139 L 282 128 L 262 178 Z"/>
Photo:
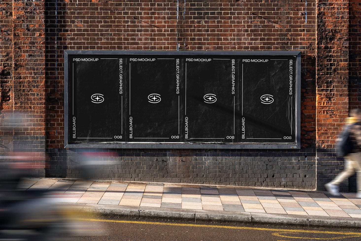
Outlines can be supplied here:
<path id="1" fill-rule="evenodd" d="M 115 220 L 84 218 L 86 226 L 103 229 L 99 236 L 74 237 L 74 240 L 242 240 L 242 241 L 310 241 L 360 240 L 355 229 L 281 227 L 245 224 L 215 224 L 171 221 Z"/>

